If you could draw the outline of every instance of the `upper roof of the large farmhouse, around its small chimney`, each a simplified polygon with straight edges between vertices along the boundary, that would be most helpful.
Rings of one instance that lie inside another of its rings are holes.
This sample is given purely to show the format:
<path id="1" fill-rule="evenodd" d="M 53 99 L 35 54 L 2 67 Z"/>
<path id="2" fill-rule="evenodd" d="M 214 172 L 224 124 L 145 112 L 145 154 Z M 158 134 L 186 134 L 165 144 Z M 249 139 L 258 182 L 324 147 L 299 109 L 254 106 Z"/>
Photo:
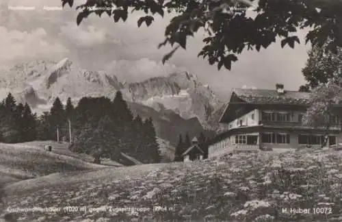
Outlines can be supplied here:
<path id="1" fill-rule="evenodd" d="M 242 89 L 233 88 L 233 93 L 246 101 L 254 104 L 284 104 L 284 105 L 308 105 L 311 93 L 285 90 L 279 94 L 276 90 L 268 89 Z"/>

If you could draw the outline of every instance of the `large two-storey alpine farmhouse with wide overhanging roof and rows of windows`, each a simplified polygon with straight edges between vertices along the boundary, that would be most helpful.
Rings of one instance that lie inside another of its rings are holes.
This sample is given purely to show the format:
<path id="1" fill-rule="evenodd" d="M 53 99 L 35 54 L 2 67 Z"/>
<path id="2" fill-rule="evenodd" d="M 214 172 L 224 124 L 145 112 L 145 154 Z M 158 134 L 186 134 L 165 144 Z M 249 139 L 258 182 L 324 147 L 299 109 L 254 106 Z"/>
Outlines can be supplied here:
<path id="1" fill-rule="evenodd" d="M 228 130 L 209 141 L 208 158 L 223 153 L 279 148 L 321 147 L 326 127 L 302 124 L 311 93 L 284 90 L 233 89 L 220 117 Z M 337 143 L 341 106 L 334 106 L 329 127 L 329 145 Z M 340 111 L 339 111 L 340 110 Z"/>

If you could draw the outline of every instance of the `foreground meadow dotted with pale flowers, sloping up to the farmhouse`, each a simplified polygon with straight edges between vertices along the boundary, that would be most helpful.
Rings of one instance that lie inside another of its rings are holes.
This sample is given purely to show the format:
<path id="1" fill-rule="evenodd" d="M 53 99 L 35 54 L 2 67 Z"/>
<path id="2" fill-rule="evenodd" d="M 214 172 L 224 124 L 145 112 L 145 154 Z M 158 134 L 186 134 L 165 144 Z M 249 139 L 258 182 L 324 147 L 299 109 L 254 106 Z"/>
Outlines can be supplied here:
<path id="1" fill-rule="evenodd" d="M 341 158 L 321 150 L 240 153 L 6 201 L 8 209 L 60 209 L 13 212 L 18 221 L 342 221 Z"/>

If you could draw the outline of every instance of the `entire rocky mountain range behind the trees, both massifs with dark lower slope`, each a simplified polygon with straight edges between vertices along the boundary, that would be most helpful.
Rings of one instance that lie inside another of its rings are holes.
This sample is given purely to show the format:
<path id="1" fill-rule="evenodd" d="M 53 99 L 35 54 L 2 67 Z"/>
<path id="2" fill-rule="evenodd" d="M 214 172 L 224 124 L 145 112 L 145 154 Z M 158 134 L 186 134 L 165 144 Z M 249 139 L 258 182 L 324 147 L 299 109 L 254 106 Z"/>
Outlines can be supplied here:
<path id="1" fill-rule="evenodd" d="M 186 132 L 213 136 L 218 126 L 213 119 L 223 104 L 208 85 L 188 72 L 127 83 L 104 71 L 81 69 L 68 58 L 23 62 L 0 72 L 0 98 L 10 92 L 38 114 L 49 110 L 56 97 L 63 103 L 70 97 L 76 105 L 82 97 L 114 99 L 120 90 L 133 114 L 151 116 L 157 136 L 173 146 Z"/>

